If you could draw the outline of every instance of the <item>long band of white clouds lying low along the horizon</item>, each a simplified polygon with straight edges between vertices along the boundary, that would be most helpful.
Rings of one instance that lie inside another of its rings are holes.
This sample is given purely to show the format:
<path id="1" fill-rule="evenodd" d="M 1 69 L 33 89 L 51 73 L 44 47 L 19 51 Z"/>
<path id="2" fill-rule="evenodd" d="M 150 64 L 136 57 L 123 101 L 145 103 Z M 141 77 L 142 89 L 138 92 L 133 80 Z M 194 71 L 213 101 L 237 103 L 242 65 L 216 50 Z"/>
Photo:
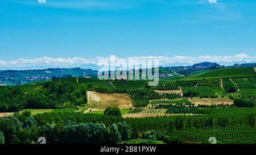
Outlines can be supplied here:
<path id="1" fill-rule="evenodd" d="M 115 60 L 120 60 L 121 58 L 115 57 Z M 160 65 L 168 65 L 175 63 L 185 63 L 185 64 L 195 64 L 198 62 L 255 62 L 256 56 L 249 56 L 245 53 L 234 56 L 142 56 L 142 57 L 127 57 L 122 58 L 123 60 L 133 59 L 133 60 L 159 60 Z M 18 60 L 3 61 L 0 60 L 0 66 L 2 68 L 21 68 L 21 67 L 35 67 L 36 66 L 79 66 L 93 64 L 97 65 L 100 60 L 110 60 L 110 57 L 95 57 L 95 58 L 52 58 L 52 57 L 42 57 L 35 59 L 25 59 L 19 58 Z"/>

